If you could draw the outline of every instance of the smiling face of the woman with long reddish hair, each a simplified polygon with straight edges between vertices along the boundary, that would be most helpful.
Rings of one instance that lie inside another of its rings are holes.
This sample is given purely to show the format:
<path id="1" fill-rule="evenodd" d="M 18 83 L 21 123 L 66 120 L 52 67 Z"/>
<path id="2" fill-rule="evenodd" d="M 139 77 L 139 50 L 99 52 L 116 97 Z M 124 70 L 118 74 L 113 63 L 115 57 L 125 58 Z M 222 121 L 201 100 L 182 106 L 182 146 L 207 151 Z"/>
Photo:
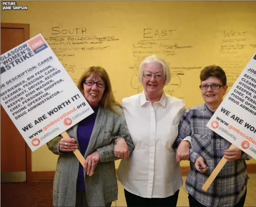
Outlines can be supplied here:
<path id="1" fill-rule="evenodd" d="M 104 84 L 104 81 L 99 76 L 93 76 L 92 74 L 87 77 L 86 81 L 92 80 L 94 82 L 101 82 Z M 100 84 L 100 83 L 98 83 Z M 88 101 L 91 107 L 97 107 L 100 100 L 102 99 L 105 88 L 100 88 L 94 83 L 92 86 L 86 85 L 84 83 L 84 96 Z"/>

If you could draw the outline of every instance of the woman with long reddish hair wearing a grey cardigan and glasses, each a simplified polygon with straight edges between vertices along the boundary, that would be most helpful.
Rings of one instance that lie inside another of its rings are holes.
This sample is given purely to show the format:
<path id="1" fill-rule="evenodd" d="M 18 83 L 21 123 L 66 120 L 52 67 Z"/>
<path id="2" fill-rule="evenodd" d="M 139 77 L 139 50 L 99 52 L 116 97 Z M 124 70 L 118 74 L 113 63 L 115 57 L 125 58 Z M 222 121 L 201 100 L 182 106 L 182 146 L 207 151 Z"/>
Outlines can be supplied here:
<path id="1" fill-rule="evenodd" d="M 67 131 L 71 140 L 59 136 L 47 143 L 59 155 L 53 205 L 111 206 L 118 199 L 114 160 L 128 158 L 134 144 L 104 68 L 88 68 L 78 88 L 94 113 Z M 73 154 L 75 149 L 85 157 L 84 166 Z"/>

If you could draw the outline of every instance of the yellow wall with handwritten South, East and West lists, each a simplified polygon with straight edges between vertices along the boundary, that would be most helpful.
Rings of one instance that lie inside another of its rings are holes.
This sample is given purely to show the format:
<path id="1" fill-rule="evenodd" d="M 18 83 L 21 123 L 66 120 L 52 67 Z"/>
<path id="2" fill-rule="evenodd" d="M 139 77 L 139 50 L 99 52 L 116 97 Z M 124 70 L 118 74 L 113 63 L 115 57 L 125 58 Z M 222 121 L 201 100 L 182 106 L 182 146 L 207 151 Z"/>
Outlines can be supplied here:
<path id="1" fill-rule="evenodd" d="M 1 21 L 29 23 L 30 37 L 42 33 L 75 82 L 89 66 L 106 68 L 118 101 L 143 90 L 136 78 L 145 56 L 167 59 L 172 81 L 165 91 L 184 99 L 189 108 L 203 102 L 199 73 L 204 66 L 223 67 L 230 87 L 256 50 L 252 1 L 18 1 L 18 5 L 27 5 L 28 11 L 2 11 Z M 32 153 L 32 171 L 55 170 L 56 159 L 43 146 Z"/>

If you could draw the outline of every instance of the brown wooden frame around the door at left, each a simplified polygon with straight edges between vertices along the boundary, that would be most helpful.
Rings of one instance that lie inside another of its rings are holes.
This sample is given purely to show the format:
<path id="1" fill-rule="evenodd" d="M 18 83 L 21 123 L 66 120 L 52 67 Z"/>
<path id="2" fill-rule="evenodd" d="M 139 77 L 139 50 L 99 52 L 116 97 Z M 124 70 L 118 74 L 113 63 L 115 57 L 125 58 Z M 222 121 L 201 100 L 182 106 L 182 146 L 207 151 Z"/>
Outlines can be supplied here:
<path id="1" fill-rule="evenodd" d="M 1 28 L 23 29 L 24 41 L 29 40 L 29 24 L 1 22 Z M 27 177 L 27 183 L 31 183 L 32 182 L 31 150 L 27 145 L 27 143 L 26 143 L 26 177 Z"/>

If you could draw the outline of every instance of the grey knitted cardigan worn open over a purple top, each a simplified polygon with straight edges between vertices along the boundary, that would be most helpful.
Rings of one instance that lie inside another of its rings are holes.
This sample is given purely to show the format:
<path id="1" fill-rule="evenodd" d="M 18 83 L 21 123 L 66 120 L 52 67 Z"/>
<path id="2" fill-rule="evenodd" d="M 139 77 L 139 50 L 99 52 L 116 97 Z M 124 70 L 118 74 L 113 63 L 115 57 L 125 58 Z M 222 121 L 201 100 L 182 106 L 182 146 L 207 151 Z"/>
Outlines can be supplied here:
<path id="1" fill-rule="evenodd" d="M 111 110 L 99 108 L 93 127 L 92 136 L 85 152 L 85 158 L 97 150 L 100 161 L 93 176 L 85 175 L 87 202 L 89 206 L 105 206 L 118 199 L 117 176 L 115 174 L 114 136 L 122 136 L 128 145 L 129 152 L 134 150 L 125 117 L 122 109 L 115 107 L 120 115 Z M 77 140 L 78 125 L 71 127 L 67 132 Z M 55 137 L 47 143 L 48 149 L 58 154 L 57 167 L 53 182 L 53 205 L 75 206 L 76 187 L 79 161 L 73 152 L 61 153 L 59 144 L 62 137 Z"/>

